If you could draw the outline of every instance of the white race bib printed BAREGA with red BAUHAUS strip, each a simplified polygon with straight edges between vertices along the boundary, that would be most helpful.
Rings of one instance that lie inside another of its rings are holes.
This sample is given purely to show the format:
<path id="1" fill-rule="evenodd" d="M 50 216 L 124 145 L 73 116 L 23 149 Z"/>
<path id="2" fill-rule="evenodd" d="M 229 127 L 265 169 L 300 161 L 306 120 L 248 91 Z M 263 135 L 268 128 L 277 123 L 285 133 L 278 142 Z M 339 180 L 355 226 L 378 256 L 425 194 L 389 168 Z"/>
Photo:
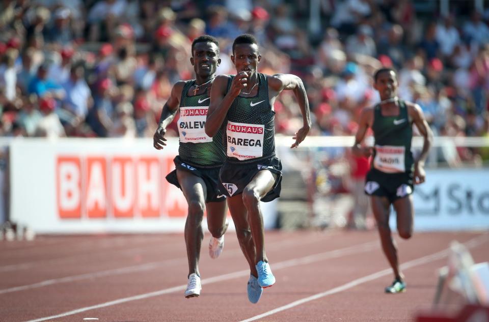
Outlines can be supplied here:
<path id="1" fill-rule="evenodd" d="M 263 134 L 261 124 L 234 123 L 228 121 L 226 140 L 228 157 L 249 160 L 263 156 Z"/>

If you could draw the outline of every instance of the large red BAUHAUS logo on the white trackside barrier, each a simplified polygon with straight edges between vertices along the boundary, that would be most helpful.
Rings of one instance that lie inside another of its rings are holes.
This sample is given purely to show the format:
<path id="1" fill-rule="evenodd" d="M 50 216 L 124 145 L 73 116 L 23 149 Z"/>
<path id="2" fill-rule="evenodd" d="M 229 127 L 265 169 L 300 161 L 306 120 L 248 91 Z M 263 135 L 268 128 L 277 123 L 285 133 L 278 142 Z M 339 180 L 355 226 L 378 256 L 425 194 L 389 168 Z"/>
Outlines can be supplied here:
<path id="1" fill-rule="evenodd" d="M 186 201 L 165 179 L 173 168 L 172 157 L 58 156 L 59 217 L 184 217 Z"/>

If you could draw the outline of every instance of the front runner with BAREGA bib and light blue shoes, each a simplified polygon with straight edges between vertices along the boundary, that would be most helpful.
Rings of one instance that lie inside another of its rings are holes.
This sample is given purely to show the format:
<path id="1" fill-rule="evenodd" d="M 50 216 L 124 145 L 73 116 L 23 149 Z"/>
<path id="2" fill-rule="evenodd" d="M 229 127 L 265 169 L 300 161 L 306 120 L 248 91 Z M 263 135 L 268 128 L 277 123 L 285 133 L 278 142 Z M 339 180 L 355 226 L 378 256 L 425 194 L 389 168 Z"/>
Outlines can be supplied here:
<path id="1" fill-rule="evenodd" d="M 311 120 L 300 78 L 257 72 L 261 55 L 255 37 L 248 34 L 237 37 L 231 60 L 237 74 L 216 77 L 205 130 L 209 136 L 216 135 L 219 129 L 223 131 L 226 162 L 220 172 L 220 188 L 228 196 L 239 245 L 250 265 L 248 299 L 256 303 L 262 288 L 275 283 L 265 254 L 259 202 L 280 195 L 282 164 L 275 156 L 273 109 L 277 96 L 283 90 L 294 91 L 303 115 L 304 126 L 293 137 L 291 148 L 304 140 Z"/>

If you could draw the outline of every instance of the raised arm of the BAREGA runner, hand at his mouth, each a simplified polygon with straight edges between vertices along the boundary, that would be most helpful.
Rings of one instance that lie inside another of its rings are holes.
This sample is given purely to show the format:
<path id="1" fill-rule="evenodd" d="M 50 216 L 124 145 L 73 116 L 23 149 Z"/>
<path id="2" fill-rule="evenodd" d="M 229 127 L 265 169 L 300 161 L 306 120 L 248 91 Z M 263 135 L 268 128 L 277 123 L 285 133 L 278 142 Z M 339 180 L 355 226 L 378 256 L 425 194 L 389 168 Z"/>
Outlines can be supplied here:
<path id="1" fill-rule="evenodd" d="M 247 74 L 244 72 L 238 73 L 233 78 L 231 89 L 227 93 L 229 76 L 219 75 L 215 77 L 210 91 L 210 104 L 205 121 L 205 134 L 212 137 L 218 132 L 234 99 L 239 95 L 241 90 L 246 89 L 247 77 Z"/>

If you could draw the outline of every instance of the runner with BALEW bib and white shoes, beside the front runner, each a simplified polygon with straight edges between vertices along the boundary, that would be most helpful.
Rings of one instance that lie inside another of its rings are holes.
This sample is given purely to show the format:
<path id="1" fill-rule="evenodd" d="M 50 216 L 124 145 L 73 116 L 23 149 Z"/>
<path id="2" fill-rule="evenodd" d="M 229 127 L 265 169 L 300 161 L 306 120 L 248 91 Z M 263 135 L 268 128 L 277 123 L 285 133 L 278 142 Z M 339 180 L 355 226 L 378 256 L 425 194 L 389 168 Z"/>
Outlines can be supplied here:
<path id="1" fill-rule="evenodd" d="M 180 144 L 175 157 L 175 170 L 167 180 L 180 188 L 188 203 L 185 222 L 185 245 L 188 258 L 188 282 L 185 297 L 198 297 L 201 291 L 199 258 L 204 237 L 202 219 L 207 210 L 207 225 L 212 238 L 209 255 L 218 257 L 224 246 L 226 222 L 226 197 L 218 192 L 219 170 L 225 155 L 221 131 L 215 137 L 205 134 L 204 124 L 210 101 L 210 89 L 215 70 L 221 63 L 219 43 L 211 36 L 201 36 L 192 43 L 191 63 L 196 79 L 177 82 L 167 103 L 163 106 L 158 129 L 153 137 L 154 148 L 166 145 L 165 129 L 178 109 Z"/>

